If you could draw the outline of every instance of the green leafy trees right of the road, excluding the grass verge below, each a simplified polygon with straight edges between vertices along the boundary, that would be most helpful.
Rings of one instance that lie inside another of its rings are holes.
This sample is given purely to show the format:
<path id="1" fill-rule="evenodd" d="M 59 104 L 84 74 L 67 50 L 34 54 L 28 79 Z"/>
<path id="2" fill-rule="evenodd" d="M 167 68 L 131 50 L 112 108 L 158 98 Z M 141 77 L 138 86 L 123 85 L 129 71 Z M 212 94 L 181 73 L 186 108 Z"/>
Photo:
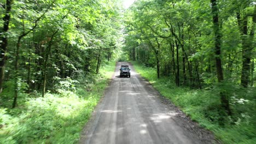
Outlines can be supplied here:
<path id="1" fill-rule="evenodd" d="M 217 86 L 221 115 L 232 116 L 230 87 L 254 85 L 255 23 L 253 1 L 137 1 L 124 49 L 178 87 Z"/>

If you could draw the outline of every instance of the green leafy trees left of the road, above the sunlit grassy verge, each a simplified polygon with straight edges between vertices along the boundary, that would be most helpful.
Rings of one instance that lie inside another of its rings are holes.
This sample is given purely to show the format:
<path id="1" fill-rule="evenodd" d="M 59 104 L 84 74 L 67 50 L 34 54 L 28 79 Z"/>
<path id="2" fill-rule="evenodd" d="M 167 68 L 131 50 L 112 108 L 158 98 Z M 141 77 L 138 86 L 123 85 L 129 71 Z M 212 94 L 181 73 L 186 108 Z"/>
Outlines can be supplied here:
<path id="1" fill-rule="evenodd" d="M 12 107 L 22 93 L 44 97 L 60 79 L 98 73 L 109 61 L 120 43 L 120 9 L 106 3 L 1 2 L 0 92 L 14 92 Z"/>

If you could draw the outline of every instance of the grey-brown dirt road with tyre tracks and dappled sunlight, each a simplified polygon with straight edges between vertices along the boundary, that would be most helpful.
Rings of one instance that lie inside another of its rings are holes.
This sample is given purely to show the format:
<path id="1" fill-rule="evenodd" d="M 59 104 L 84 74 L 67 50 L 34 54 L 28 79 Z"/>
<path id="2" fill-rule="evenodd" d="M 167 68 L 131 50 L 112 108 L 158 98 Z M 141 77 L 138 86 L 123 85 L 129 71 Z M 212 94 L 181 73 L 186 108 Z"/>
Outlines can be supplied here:
<path id="1" fill-rule="evenodd" d="M 120 65 L 130 65 L 130 78 L 119 77 Z M 162 98 L 130 63 L 119 62 L 79 143 L 213 142 L 211 133 Z"/>

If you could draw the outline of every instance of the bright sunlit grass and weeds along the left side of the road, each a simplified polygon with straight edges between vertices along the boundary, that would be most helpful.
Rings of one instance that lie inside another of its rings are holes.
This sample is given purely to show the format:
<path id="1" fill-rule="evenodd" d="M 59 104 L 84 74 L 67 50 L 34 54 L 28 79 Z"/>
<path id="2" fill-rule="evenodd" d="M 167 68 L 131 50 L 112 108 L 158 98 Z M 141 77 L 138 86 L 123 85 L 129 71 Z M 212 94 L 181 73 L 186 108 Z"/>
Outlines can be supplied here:
<path id="1" fill-rule="evenodd" d="M 62 87 L 44 98 L 27 95 L 16 109 L 0 107 L 0 143 L 77 143 L 114 68 L 109 62 L 86 86 Z"/>

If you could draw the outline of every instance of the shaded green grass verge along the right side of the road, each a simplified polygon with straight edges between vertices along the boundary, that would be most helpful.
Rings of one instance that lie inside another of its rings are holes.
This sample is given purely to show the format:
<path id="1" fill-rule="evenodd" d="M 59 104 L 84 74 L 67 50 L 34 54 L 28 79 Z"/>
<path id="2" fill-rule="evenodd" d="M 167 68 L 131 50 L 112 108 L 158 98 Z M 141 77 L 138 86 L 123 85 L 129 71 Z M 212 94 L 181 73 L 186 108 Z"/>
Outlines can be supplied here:
<path id="1" fill-rule="evenodd" d="M 164 97 L 167 97 L 172 103 L 180 107 L 183 112 L 190 116 L 193 121 L 198 122 L 201 127 L 213 131 L 216 138 L 222 141 L 222 143 L 255 143 L 255 101 L 242 101 L 243 103 L 238 103 L 239 100 L 241 102 L 241 99 L 231 99 L 232 110 L 234 115 L 237 116 L 237 121 L 235 124 L 226 122 L 225 127 L 222 127 L 218 123 L 218 105 L 220 101 L 216 89 L 200 90 L 176 87 L 171 77 L 157 79 L 156 69 L 145 67 L 138 62 L 132 62 L 132 64 L 137 73 L 152 83 L 153 87 L 158 89 Z M 245 93 L 240 92 L 240 94 Z M 255 97 L 255 88 L 246 94 L 247 97 Z"/>

